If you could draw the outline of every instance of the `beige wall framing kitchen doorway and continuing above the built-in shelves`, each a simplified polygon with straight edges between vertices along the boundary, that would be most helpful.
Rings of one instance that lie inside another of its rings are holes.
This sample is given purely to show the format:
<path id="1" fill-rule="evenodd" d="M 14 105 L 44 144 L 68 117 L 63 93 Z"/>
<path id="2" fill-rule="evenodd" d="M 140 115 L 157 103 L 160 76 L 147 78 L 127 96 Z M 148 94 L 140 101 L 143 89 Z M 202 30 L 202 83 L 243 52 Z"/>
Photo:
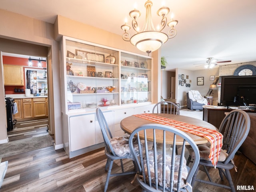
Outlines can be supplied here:
<path id="1" fill-rule="evenodd" d="M 15 14 L 8 12 L 6 10 L 0 10 L 0 38 L 14 40 L 18 42 L 29 43 L 28 47 L 33 47 L 33 44 L 40 46 L 46 46 L 51 52 L 51 62 L 48 66 L 50 70 L 49 74 L 49 106 L 50 106 L 50 126 L 51 129 L 55 130 L 55 148 L 59 148 L 62 144 L 62 113 L 61 113 L 61 94 L 60 94 L 60 43 L 61 36 L 70 36 L 78 38 L 81 40 L 86 40 L 88 42 L 94 42 L 97 44 L 110 46 L 113 48 L 118 48 L 126 50 L 129 52 L 134 52 L 138 54 L 146 55 L 146 53 L 138 51 L 130 42 L 124 42 L 121 36 L 116 34 L 106 32 L 104 30 L 94 28 L 58 16 L 54 25 L 42 22 L 40 20 L 35 20 L 20 14 Z M 8 46 L 8 45 L 7 45 Z M 9 51 L 6 48 L 1 48 L 2 52 L 13 52 L 19 54 L 24 53 L 21 49 L 15 50 L 13 46 L 9 47 Z M 40 53 L 33 53 L 40 54 Z M 160 54 L 155 51 L 150 56 L 153 56 L 153 72 L 156 76 L 152 78 L 152 86 L 156 90 L 152 96 L 153 102 L 157 102 L 158 97 L 160 98 Z M 155 62 L 154 62 L 155 61 Z M 2 67 L 1 67 L 2 68 Z M 0 69 L 0 74 L 2 74 L 2 69 Z M 5 122 L 5 109 L 4 109 L 4 87 L 3 78 L 0 78 L 0 121 Z M 0 124 L 0 142 L 7 139 L 6 125 Z"/>

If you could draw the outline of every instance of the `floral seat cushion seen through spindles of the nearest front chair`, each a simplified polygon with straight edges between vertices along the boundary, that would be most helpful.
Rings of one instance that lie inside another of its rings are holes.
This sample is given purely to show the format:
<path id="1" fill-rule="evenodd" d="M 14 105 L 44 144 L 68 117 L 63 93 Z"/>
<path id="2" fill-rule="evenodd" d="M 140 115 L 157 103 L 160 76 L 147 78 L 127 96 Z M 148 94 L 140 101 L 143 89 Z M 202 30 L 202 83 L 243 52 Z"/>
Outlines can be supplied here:
<path id="1" fill-rule="evenodd" d="M 170 170 L 171 170 L 171 162 L 172 162 L 172 156 L 169 154 L 166 154 L 166 185 L 165 188 L 170 187 Z M 179 163 L 180 162 L 180 156 L 175 156 L 175 166 L 174 166 L 174 188 L 177 188 L 177 182 L 178 182 L 178 170 L 179 170 Z M 149 151 L 149 164 L 150 164 L 150 175 L 152 183 L 155 182 L 155 174 L 154 174 L 154 152 L 152 150 Z M 157 153 L 157 166 L 158 166 L 158 184 L 163 187 L 162 184 L 162 153 Z M 144 169 L 146 174 L 146 180 L 148 179 L 148 170 L 146 167 L 146 160 L 144 160 Z M 186 186 L 185 181 L 186 177 L 188 176 L 188 169 L 186 167 L 186 160 L 184 159 L 183 166 L 182 166 L 182 179 L 181 179 L 181 188 Z"/>

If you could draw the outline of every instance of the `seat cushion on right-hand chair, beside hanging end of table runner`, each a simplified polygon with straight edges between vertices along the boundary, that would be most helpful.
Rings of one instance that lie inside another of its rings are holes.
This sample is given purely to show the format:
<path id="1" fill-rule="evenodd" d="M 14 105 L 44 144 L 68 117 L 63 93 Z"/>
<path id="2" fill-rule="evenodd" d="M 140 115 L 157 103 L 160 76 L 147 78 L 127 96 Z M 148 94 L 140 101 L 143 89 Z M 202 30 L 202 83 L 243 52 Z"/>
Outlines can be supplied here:
<path id="1" fill-rule="evenodd" d="M 209 155 L 210 155 L 210 146 L 209 146 L 209 144 L 210 143 L 198 145 L 200 158 L 204 158 L 205 160 L 208 160 L 208 161 L 210 161 L 210 159 L 209 159 Z M 191 158 L 194 159 L 195 153 L 194 153 L 192 147 L 188 147 L 188 152 L 189 152 Z M 224 150 L 221 149 L 218 161 L 219 162 L 225 161 L 227 156 L 228 156 L 228 154 Z"/>

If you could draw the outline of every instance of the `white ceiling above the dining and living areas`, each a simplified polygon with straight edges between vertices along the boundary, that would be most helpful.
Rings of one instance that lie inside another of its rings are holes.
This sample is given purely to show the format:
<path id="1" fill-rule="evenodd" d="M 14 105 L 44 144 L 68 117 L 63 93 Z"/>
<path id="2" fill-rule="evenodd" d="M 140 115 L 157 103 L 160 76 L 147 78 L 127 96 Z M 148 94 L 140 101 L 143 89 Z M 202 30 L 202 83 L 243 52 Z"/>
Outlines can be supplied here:
<path id="1" fill-rule="evenodd" d="M 0 9 L 52 24 L 56 16 L 61 15 L 122 35 L 120 26 L 126 17 L 131 26 L 129 12 L 134 9 L 134 2 L 142 13 L 138 20 L 142 28 L 146 0 L 1 0 Z M 159 0 L 152 2 L 156 26 L 156 22 L 160 22 L 156 12 L 162 3 Z M 166 70 L 204 69 L 202 64 L 208 57 L 218 61 L 232 60 L 218 66 L 256 61 L 255 0 L 165 0 L 165 6 L 178 20 L 176 37 L 161 48 L 161 56 L 166 56 L 168 62 Z"/>

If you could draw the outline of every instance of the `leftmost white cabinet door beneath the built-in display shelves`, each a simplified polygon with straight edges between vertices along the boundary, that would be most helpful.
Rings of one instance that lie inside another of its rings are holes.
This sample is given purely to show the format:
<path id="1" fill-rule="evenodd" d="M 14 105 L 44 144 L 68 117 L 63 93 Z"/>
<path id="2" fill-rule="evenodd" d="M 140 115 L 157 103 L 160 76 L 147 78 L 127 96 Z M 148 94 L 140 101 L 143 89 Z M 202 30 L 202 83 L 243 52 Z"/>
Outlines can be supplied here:
<path id="1" fill-rule="evenodd" d="M 95 114 L 70 117 L 70 151 L 95 144 Z"/>

